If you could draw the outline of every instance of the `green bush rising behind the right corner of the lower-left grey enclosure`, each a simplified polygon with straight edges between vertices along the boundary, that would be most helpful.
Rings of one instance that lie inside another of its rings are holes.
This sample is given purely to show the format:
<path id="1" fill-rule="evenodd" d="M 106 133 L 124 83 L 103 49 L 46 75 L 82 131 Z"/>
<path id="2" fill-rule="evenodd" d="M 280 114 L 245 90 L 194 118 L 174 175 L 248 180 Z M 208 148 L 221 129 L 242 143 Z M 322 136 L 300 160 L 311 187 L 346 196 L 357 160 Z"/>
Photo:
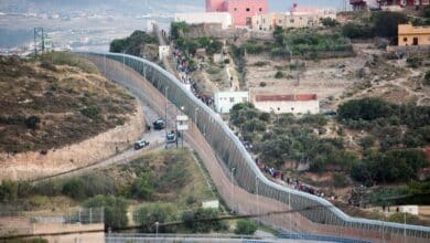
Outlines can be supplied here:
<path id="1" fill-rule="evenodd" d="M 86 200 L 83 204 L 85 208 L 104 208 L 106 230 L 120 229 L 128 224 L 128 201 L 123 198 L 99 194 Z"/>

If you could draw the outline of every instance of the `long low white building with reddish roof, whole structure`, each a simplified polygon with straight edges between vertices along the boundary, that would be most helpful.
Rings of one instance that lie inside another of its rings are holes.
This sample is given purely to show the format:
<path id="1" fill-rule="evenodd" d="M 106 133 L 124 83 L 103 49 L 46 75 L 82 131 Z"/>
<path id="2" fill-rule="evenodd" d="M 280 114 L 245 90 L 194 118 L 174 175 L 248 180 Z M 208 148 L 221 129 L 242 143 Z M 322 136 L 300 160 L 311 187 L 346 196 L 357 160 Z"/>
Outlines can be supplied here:
<path id="1" fill-rule="evenodd" d="M 251 103 L 266 113 L 318 114 L 320 101 L 315 94 L 254 95 Z"/>

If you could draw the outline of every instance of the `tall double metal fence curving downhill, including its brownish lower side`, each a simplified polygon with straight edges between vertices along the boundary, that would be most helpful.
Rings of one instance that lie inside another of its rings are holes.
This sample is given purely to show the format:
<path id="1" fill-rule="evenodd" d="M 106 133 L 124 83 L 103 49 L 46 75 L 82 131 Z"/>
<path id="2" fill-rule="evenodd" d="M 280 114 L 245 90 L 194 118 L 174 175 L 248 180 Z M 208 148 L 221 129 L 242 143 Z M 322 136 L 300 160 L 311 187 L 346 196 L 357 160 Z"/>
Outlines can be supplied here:
<path id="1" fill-rule="evenodd" d="M 95 62 L 110 78 L 129 78 L 127 75 L 130 74 L 125 73 L 132 71 L 136 75 L 141 75 L 142 80 L 144 77 L 143 82 L 150 83 L 148 84 L 150 86 L 140 87 L 141 92 L 152 98 L 151 88 L 154 87 L 157 88 L 154 91 L 165 95 L 176 107 L 185 107 L 184 113 L 194 122 L 200 131 L 198 136 L 203 136 L 215 154 L 219 167 L 223 168 L 223 177 L 230 180 L 232 197 L 225 188 L 230 186 L 216 183 L 217 179 L 213 175 L 215 173 L 212 171 L 213 168 L 207 168 L 213 179 L 215 178 L 217 189 L 226 199 L 227 204 L 237 209 L 239 213 L 249 212 L 250 207 L 247 208 L 247 204 L 254 208 L 257 205 L 258 212 L 269 212 L 269 209 L 286 209 L 282 207 L 287 207 L 289 210 L 297 210 L 292 219 L 291 215 L 288 219 L 286 215 L 272 214 L 261 218 L 261 221 L 299 233 L 350 236 L 373 242 L 429 242 L 430 228 L 352 218 L 320 197 L 284 188 L 268 180 L 219 116 L 185 89 L 171 73 L 157 64 L 125 54 L 78 54 Z M 229 173 L 232 168 L 235 168 L 234 175 Z M 238 189 L 234 189 L 233 184 Z M 235 196 L 233 196 L 233 190 L 235 190 Z"/>

